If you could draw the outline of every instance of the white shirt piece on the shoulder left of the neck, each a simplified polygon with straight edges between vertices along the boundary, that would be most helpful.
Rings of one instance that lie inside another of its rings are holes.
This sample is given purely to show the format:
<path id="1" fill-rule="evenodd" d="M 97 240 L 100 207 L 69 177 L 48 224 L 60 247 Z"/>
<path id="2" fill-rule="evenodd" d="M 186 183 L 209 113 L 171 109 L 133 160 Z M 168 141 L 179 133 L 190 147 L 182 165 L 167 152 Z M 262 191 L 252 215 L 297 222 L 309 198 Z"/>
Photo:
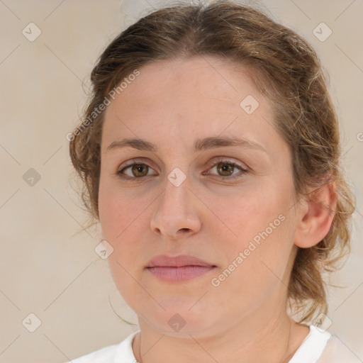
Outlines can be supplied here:
<path id="1" fill-rule="evenodd" d="M 122 342 L 109 345 L 108 347 L 101 348 L 95 352 L 83 355 L 76 359 L 72 359 L 72 363 L 135 363 L 136 359 L 133 354 L 133 337 L 139 333 L 138 331 L 128 335 Z M 121 359 L 123 359 L 121 361 Z"/>

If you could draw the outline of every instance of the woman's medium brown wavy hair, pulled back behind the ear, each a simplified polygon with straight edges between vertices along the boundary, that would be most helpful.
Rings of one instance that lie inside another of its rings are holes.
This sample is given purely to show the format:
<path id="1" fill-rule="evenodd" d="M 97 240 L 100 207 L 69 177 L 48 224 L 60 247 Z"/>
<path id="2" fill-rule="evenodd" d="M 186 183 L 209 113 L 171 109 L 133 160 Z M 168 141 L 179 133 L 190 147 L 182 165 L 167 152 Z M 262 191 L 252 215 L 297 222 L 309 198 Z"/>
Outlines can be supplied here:
<path id="1" fill-rule="evenodd" d="M 317 245 L 298 248 L 289 281 L 289 306 L 300 321 L 311 320 L 328 311 L 323 274 L 350 250 L 355 199 L 340 166 L 339 125 L 318 56 L 300 35 L 262 11 L 237 1 L 177 3 L 140 18 L 108 45 L 91 72 L 91 100 L 69 144 L 84 206 L 97 222 L 104 111 L 95 110 L 105 97 L 147 63 L 203 55 L 247 66 L 271 99 L 274 126 L 291 150 L 296 196 L 335 182 L 330 231 Z"/>

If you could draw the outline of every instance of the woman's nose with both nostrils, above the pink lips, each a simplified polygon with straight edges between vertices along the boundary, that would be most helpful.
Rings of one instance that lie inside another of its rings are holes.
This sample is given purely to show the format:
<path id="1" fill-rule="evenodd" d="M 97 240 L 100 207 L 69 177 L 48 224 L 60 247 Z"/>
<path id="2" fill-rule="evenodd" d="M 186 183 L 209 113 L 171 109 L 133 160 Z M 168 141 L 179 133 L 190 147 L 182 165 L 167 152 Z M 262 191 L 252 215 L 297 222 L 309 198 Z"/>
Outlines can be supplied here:
<path id="1" fill-rule="evenodd" d="M 201 229 L 201 213 L 198 209 L 201 206 L 187 180 L 175 186 L 167 179 L 164 191 L 155 201 L 150 227 L 166 240 L 191 236 Z"/>

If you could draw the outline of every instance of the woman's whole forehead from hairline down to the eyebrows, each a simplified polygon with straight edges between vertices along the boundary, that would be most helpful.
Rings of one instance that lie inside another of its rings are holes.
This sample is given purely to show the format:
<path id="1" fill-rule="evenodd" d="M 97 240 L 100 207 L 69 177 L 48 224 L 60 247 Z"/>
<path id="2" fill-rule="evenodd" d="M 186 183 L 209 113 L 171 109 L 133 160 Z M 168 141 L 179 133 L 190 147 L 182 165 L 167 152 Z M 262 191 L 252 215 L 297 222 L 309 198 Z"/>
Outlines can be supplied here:
<path id="1" fill-rule="evenodd" d="M 192 149 L 196 139 L 222 134 L 248 138 L 267 150 L 279 147 L 269 101 L 242 65 L 194 57 L 151 62 L 138 71 L 106 109 L 103 152 L 123 138 L 170 150 L 176 143 Z"/>

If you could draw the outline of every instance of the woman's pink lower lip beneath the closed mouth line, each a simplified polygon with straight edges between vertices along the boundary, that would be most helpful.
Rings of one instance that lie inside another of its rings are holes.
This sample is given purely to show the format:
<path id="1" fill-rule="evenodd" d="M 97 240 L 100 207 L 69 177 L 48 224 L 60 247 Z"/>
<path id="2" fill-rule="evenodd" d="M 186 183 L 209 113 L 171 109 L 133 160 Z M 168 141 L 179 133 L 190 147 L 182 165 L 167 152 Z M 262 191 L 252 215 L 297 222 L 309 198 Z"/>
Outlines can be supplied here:
<path id="1" fill-rule="evenodd" d="M 213 266 L 182 266 L 182 267 L 147 267 L 157 278 L 164 281 L 187 281 L 207 274 Z"/>

